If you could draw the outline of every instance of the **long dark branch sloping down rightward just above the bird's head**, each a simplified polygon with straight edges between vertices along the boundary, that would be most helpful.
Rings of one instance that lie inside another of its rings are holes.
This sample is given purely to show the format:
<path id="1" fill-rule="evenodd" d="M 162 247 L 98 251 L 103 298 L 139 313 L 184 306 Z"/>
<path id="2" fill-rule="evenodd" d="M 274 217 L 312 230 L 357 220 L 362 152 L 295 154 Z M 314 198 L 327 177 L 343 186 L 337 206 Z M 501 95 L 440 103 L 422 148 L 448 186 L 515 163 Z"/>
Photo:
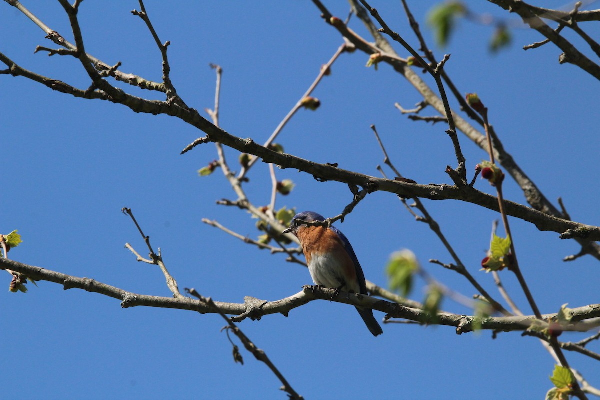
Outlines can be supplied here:
<path id="1" fill-rule="evenodd" d="M 5 61 L 6 60 L 6 61 Z M 11 74 L 15 76 L 25 76 L 36 82 L 75 97 L 82 98 L 100 98 L 112 103 L 119 103 L 127 106 L 137 113 L 149 113 L 153 115 L 166 114 L 174 116 L 187 122 L 208 134 L 205 142 L 218 142 L 230 148 L 236 149 L 242 153 L 256 155 L 265 163 L 277 164 L 281 168 L 292 168 L 313 175 L 319 181 L 337 181 L 345 184 L 356 185 L 367 189 L 369 193 L 375 191 L 385 191 L 397 194 L 405 199 L 420 197 L 430 200 L 461 200 L 467 203 L 477 204 L 490 210 L 499 211 L 496 197 L 475 190 L 468 185 L 465 187 L 455 187 L 449 185 L 418 185 L 407 182 L 391 181 L 389 179 L 374 178 L 373 176 L 361 173 L 343 170 L 330 164 L 318 164 L 313 161 L 307 161 L 303 158 L 295 157 L 290 154 L 281 154 L 271 149 L 254 143 L 251 139 L 241 139 L 233 136 L 221 128 L 215 127 L 208 120 L 203 118 L 197 110 L 185 109 L 177 104 L 167 103 L 166 101 L 145 100 L 136 96 L 129 95 L 121 89 L 112 88 L 118 94 L 118 97 L 109 96 L 101 91 L 82 91 L 73 88 L 61 81 L 49 80 L 46 77 L 31 73 L 20 68 L 14 62 L 0 53 L 0 61 L 10 65 Z M 554 231 L 561 234 L 561 239 L 580 238 L 586 240 L 600 240 L 600 228 L 592 225 L 580 224 L 574 221 L 557 218 L 545 213 L 534 210 L 522 204 L 506 201 L 506 213 L 515 218 L 531 222 L 539 230 Z"/>

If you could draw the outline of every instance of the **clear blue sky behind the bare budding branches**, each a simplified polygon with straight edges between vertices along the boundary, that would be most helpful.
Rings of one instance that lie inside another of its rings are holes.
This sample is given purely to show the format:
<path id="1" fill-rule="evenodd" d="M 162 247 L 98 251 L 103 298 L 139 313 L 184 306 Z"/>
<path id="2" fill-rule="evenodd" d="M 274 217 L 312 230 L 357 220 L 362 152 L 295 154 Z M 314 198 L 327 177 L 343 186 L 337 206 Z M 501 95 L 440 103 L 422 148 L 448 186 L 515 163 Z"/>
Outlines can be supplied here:
<path id="1" fill-rule="evenodd" d="M 425 14 L 436 1 L 412 3 L 433 46 Z M 545 7 L 562 5 L 547 3 Z M 347 16 L 345 2 L 325 4 L 332 14 Z M 25 5 L 72 39 L 58 3 Z M 392 29 L 418 46 L 400 2 L 373 5 Z M 86 49 L 107 64 L 121 61 L 121 71 L 160 81 L 160 53 L 143 22 L 131 16 L 134 8 L 139 9 L 134 1 L 109 6 L 84 2 L 80 21 Z M 342 43 L 309 1 L 147 1 L 146 9 L 161 40 L 172 43 L 172 80 L 181 97 L 195 109 L 212 108 L 215 73 L 209 63 L 221 65 L 221 126 L 256 142 L 270 136 Z M 73 58 L 34 55 L 35 46 L 52 43 L 16 9 L 3 4 L 0 10 L 5 55 L 53 79 L 89 86 Z M 515 18 L 486 2 L 478 2 L 475 10 Z M 350 27 L 367 37 L 358 20 Z M 553 201 L 562 197 L 575 221 L 599 225 L 597 82 L 577 67 L 559 65 L 556 47 L 524 52 L 524 45 L 541 40 L 536 32 L 513 33 L 512 46 L 492 55 L 487 50 L 491 28 L 462 21 L 449 46 L 435 51 L 439 57 L 451 53 L 446 71 L 461 92 L 479 94 L 505 148 L 544 194 Z M 596 26 L 589 34 L 597 38 L 600 31 Z M 365 68 L 367 58 L 359 52 L 341 55 L 332 75 L 314 92 L 320 109 L 301 110 L 277 142 L 298 157 L 379 176 L 376 166 L 383 156 L 369 128 L 375 124 L 404 176 L 422 184 L 450 184 L 444 170 L 448 164 L 455 166 L 455 158 L 446 127 L 401 115 L 395 102 L 409 108 L 421 98 L 391 68 Z M 147 91 L 128 90 L 156 98 Z M 124 248 L 131 243 L 140 254 L 147 252 L 135 226 L 121 213 L 122 207 L 130 207 L 154 248 L 161 248 L 180 288 L 241 303 L 244 296 L 282 299 L 311 283 L 308 271 L 286 263 L 284 256 L 259 251 L 201 222 L 216 219 L 241 234 L 259 234 L 247 213 L 215 204 L 236 199 L 220 171 L 197 176 L 198 169 L 217 158 L 212 144 L 179 155 L 203 136 L 193 127 L 167 116 L 71 98 L 22 77 L 0 76 L 0 104 L 5 167 L 0 229 L 18 229 L 23 236 L 22 246 L 10 252 L 14 260 L 134 293 L 170 296 L 160 270 L 137 263 Z M 460 140 L 471 173 L 486 155 L 466 137 Z M 227 156 L 236 168 L 237 152 L 228 149 Z M 352 200 L 343 184 L 320 183 L 293 170 L 278 170 L 277 176 L 296 183 L 290 196 L 277 200 L 277 208 L 334 216 Z M 257 206 L 268 204 L 268 167 L 257 164 L 250 180 L 250 199 Z M 476 187 L 494 193 L 487 182 L 480 180 Z M 505 191 L 506 198 L 525 201 L 511 180 Z M 492 221 L 499 216 L 457 201 L 425 205 L 473 275 L 500 298 L 491 275 L 478 272 Z M 599 303 L 595 259 L 563 263 L 563 257 L 579 251 L 577 243 L 516 219 L 511 223 L 523 273 L 542 313 L 557 312 L 563 303 Z M 391 194 L 369 195 L 337 227 L 352 242 L 367 279 L 376 284 L 386 287 L 386 261 L 392 252 L 408 248 L 440 282 L 466 296 L 475 293 L 461 276 L 427 262 L 451 258 L 429 228 L 415 222 Z M 8 288 L 10 276 L 4 275 Z M 503 273 L 502 278 L 530 314 L 514 276 Z M 218 315 L 121 309 L 118 301 L 98 294 L 64 291 L 49 282 L 38 286 L 30 285 L 27 294 L 7 290 L 2 295 L 0 381 L 7 398 L 285 398 L 275 376 L 251 354 L 242 349 L 244 366 L 233 362 Z M 415 300 L 423 299 L 423 288 L 418 282 Z M 449 300 L 442 306 L 472 313 Z M 379 312 L 376 316 L 383 318 Z M 245 320 L 241 328 L 307 399 L 541 398 L 551 386 L 553 360 L 536 339 L 520 333 L 502 333 L 492 340 L 490 332 L 457 336 L 448 327 L 387 324 L 384 335 L 373 338 L 354 309 L 328 302 L 310 303 L 287 318 Z M 598 351 L 598 344 L 590 349 Z M 592 360 L 567 356 L 590 384 L 600 386 L 600 369 Z"/>

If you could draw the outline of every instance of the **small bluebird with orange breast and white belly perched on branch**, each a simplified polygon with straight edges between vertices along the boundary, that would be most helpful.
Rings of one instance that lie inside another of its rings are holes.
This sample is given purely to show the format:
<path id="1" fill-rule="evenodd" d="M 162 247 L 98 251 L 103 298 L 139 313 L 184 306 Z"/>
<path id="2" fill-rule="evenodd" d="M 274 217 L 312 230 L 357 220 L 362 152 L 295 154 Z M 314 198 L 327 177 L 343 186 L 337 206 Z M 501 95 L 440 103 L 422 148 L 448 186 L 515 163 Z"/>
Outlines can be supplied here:
<path id="1" fill-rule="evenodd" d="M 283 231 L 292 233 L 300 240 L 314 283 L 338 291 L 368 295 L 365 274 L 347 237 L 334 226 L 310 226 L 301 221 L 323 222 L 325 218 L 316 212 L 301 212 L 294 216 L 290 227 Z M 383 333 L 372 309 L 356 307 L 356 311 L 373 336 Z"/>

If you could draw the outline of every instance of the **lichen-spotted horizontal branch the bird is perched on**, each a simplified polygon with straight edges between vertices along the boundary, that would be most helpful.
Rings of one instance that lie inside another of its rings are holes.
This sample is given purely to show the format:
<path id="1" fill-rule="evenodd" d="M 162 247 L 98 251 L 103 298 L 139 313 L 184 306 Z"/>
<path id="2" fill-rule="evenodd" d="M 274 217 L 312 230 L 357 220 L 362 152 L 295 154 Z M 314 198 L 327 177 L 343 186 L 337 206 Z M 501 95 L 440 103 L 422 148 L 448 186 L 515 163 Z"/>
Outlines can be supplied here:
<path id="1" fill-rule="evenodd" d="M 411 321 L 424 322 L 428 320 L 428 313 L 421 310 L 402 306 L 397 303 L 387 302 L 385 300 L 375 299 L 362 294 L 353 294 L 335 289 L 326 289 L 314 286 L 305 286 L 304 290 L 285 299 L 274 302 L 266 302 L 252 297 L 246 297 L 244 304 L 224 303 L 224 302 L 203 302 L 188 297 L 175 299 L 173 297 L 147 296 L 144 294 L 131 293 L 121 288 L 104 284 L 89 278 L 79 278 L 77 276 L 67 275 L 65 273 L 55 272 L 41 267 L 31 266 L 19 263 L 18 261 L 6 260 L 0 258 L 0 269 L 10 269 L 14 272 L 23 273 L 29 278 L 37 281 L 48 281 L 64 286 L 65 290 L 78 288 L 93 293 L 104 294 L 104 296 L 121 300 L 122 308 L 136 306 L 158 307 L 182 309 L 188 311 L 200 312 L 200 314 L 223 313 L 229 315 L 240 315 L 234 318 L 239 322 L 246 318 L 260 320 L 264 315 L 269 314 L 289 314 L 292 309 L 305 305 L 313 300 L 328 300 L 337 303 L 344 303 L 353 306 L 362 306 L 372 308 L 377 311 L 385 312 L 386 318 L 404 318 Z M 565 330 L 576 330 L 578 332 L 595 329 L 600 326 L 600 321 L 592 320 L 600 318 L 600 304 L 592 304 L 580 308 L 571 309 L 573 326 Z M 544 321 L 556 318 L 557 314 L 542 315 Z M 457 333 L 472 332 L 475 329 L 485 330 L 526 330 L 535 316 L 517 316 L 517 317 L 488 317 L 476 318 L 468 315 L 451 314 L 443 312 L 437 315 L 436 324 L 444 326 L 454 326 Z M 582 321 L 587 321 L 582 323 Z M 578 324 L 575 324 L 578 323 Z"/>

